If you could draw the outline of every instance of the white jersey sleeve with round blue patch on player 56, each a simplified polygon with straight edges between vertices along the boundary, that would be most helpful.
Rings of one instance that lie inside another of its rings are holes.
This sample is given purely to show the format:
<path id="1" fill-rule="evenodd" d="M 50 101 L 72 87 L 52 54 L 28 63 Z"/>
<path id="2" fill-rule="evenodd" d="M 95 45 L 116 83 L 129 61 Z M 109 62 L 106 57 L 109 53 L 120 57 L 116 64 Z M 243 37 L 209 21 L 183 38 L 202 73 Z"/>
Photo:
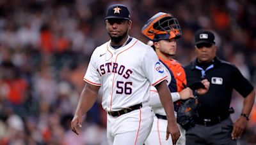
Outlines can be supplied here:
<path id="1" fill-rule="evenodd" d="M 157 85 L 167 78 L 164 66 L 159 62 L 156 52 L 152 48 L 148 48 L 148 51 L 143 56 L 142 67 L 145 76 L 152 86 Z"/>

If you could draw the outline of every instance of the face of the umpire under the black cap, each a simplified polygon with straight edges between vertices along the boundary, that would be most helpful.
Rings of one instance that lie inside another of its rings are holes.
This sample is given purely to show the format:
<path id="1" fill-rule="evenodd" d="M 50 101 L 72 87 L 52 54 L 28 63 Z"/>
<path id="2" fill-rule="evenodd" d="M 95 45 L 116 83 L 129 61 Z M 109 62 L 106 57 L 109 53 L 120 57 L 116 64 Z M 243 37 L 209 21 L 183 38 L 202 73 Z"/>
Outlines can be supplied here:
<path id="1" fill-rule="evenodd" d="M 195 46 L 198 62 L 211 62 L 216 56 L 217 47 L 210 43 L 201 43 Z"/>

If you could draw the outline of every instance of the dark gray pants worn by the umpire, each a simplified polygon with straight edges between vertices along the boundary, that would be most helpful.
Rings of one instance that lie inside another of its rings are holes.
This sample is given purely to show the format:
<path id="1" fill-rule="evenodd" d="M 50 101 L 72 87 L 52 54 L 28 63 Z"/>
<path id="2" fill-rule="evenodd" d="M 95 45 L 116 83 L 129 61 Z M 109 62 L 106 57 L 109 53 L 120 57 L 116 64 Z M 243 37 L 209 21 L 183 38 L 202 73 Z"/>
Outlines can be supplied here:
<path id="1" fill-rule="evenodd" d="M 233 123 L 230 116 L 216 125 L 205 127 L 196 124 L 186 132 L 186 144 L 230 144 L 236 145 L 237 140 L 232 140 Z"/>

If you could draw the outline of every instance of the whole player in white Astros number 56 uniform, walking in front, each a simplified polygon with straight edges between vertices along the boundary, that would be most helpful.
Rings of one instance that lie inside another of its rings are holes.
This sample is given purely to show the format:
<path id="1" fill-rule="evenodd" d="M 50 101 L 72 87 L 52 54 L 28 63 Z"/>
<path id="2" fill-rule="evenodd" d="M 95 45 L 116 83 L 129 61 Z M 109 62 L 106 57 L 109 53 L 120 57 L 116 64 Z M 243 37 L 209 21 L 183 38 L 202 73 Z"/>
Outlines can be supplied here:
<path id="1" fill-rule="evenodd" d="M 109 6 L 105 19 L 111 39 L 92 54 L 84 75 L 86 85 L 71 122 L 73 132 L 79 134 L 77 127 L 81 127 L 82 116 L 92 107 L 101 86 L 102 107 L 108 113 L 108 143 L 143 144 L 152 128 L 153 113 L 148 100 L 150 86 L 155 86 L 168 119 L 166 138 L 171 134 L 176 142 L 180 132 L 170 93 L 166 93 L 170 92 L 165 83 L 167 76 L 156 53 L 129 36 L 132 22 L 126 6 Z"/>

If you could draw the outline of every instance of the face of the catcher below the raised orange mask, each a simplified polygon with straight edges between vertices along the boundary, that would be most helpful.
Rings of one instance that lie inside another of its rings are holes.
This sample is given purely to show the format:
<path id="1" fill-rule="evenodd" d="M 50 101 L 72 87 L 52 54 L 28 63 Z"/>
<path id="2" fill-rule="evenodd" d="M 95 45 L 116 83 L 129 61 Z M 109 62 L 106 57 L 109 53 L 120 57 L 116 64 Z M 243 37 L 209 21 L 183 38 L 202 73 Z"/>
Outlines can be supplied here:
<path id="1" fill-rule="evenodd" d="M 162 53 L 166 57 L 174 56 L 177 50 L 176 39 L 165 39 L 154 43 L 157 53 Z"/>

